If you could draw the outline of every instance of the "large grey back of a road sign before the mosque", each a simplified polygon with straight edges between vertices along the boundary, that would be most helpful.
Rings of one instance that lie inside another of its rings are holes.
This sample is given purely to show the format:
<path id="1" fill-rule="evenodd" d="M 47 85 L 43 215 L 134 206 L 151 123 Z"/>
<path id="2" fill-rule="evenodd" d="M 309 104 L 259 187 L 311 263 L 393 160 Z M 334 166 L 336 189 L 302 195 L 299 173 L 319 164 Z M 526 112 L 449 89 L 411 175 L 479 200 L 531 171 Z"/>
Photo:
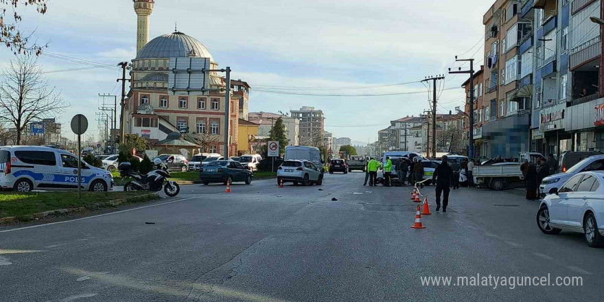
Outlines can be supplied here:
<path id="1" fill-rule="evenodd" d="M 204 95 L 209 89 L 210 58 L 171 58 L 167 90 L 170 95 Z"/>

